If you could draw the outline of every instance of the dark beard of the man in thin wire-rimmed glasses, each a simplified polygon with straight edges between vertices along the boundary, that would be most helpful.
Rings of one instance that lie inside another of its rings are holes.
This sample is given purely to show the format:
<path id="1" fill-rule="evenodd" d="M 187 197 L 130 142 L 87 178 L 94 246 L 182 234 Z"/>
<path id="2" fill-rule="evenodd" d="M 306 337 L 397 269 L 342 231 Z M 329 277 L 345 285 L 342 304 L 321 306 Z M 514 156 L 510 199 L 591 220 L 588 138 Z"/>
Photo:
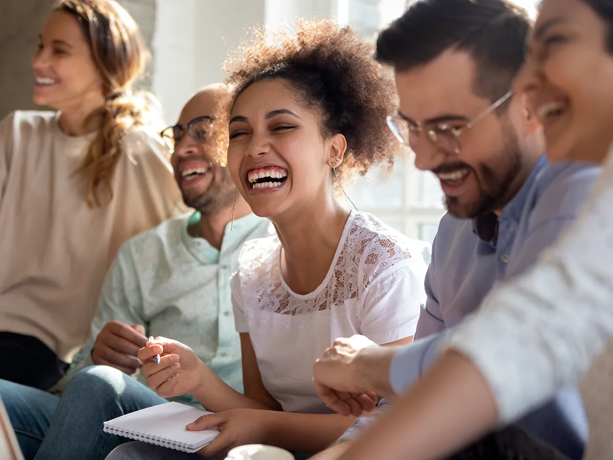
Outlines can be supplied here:
<path id="1" fill-rule="evenodd" d="M 480 174 L 477 174 L 474 168 L 470 168 L 473 170 L 475 177 L 478 177 L 482 182 L 478 201 L 471 205 L 471 207 L 462 207 L 457 197 L 445 197 L 444 204 L 447 212 L 454 217 L 474 219 L 475 217 L 503 209 L 511 201 L 514 194 L 517 193 L 516 190 L 511 190 L 511 186 L 517 180 L 517 176 L 522 170 L 522 153 L 519 142 L 517 142 L 517 136 L 511 131 L 511 127 L 508 124 L 505 124 L 503 128 L 503 136 L 505 139 L 503 148 L 489 164 L 480 164 L 478 166 Z M 502 164 L 504 170 L 501 171 L 500 167 L 497 170 L 491 166 L 492 164 Z M 485 190 L 491 190 L 491 192 Z"/>

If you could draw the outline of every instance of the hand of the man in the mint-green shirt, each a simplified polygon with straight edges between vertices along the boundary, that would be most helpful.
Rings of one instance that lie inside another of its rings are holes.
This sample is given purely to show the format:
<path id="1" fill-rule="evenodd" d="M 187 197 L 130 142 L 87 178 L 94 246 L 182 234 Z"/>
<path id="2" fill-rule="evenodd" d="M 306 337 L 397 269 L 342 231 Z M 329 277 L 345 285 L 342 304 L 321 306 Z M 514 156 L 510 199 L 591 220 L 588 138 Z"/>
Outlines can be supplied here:
<path id="1" fill-rule="evenodd" d="M 142 366 L 136 354 L 147 344 L 142 324 L 109 321 L 96 337 L 91 351 L 94 364 L 111 366 L 132 375 Z"/>

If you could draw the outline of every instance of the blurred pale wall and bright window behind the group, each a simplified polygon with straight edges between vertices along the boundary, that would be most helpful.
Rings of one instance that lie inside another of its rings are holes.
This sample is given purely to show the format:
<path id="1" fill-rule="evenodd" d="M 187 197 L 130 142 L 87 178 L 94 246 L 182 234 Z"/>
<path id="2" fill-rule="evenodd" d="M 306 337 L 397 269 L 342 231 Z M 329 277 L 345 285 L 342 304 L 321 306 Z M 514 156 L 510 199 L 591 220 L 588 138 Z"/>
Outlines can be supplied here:
<path id="1" fill-rule="evenodd" d="M 226 54 L 254 25 L 275 31 L 293 18 L 333 18 L 374 40 L 402 15 L 409 0 L 120 0 L 139 23 L 153 55 L 140 82 L 162 103 L 168 125 L 201 86 L 222 81 Z M 517 0 L 533 9 L 532 0 Z M 0 117 L 35 109 L 30 60 L 53 0 L 0 0 Z M 413 158 L 390 175 L 376 169 L 346 186 L 360 210 L 371 212 L 409 237 L 428 243 L 444 207 L 438 180 L 413 167 Z"/>

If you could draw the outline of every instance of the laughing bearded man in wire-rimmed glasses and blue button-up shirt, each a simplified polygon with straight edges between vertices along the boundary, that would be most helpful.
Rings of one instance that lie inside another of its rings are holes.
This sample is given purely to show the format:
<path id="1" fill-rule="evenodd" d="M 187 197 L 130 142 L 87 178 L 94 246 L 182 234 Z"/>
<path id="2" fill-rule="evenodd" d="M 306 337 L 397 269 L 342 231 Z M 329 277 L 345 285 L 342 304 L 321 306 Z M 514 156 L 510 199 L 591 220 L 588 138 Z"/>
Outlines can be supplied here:
<path id="1" fill-rule="evenodd" d="M 524 10 L 505 0 L 421 0 L 379 35 L 376 59 L 394 68 L 400 96 L 388 124 L 414 151 L 416 167 L 440 180 L 447 214 L 433 243 L 416 342 L 383 350 L 355 336 L 316 362 L 319 394 L 338 412 L 367 401 L 357 398 L 367 389 L 387 398 L 404 393 L 438 357 L 446 329 L 496 283 L 535 263 L 587 199 L 600 168 L 548 165 L 539 114 L 512 94 L 530 29 Z M 388 401 L 317 459 L 357 457 L 352 442 Z M 582 456 L 587 424 L 574 388 L 517 426 L 571 459 Z"/>

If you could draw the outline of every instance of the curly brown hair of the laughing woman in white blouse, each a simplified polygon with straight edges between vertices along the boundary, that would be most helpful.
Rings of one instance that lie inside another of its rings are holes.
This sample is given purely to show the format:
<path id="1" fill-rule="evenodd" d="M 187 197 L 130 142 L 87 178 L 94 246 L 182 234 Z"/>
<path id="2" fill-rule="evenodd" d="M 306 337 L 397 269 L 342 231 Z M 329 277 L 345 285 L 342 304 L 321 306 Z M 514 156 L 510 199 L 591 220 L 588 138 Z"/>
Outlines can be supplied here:
<path id="1" fill-rule="evenodd" d="M 243 42 L 224 70 L 234 87 L 232 101 L 253 83 L 284 79 L 300 102 L 321 113 L 322 136 L 347 140 L 339 174 L 366 174 L 374 164 L 391 167 L 402 146 L 387 128 L 397 107 L 394 81 L 372 57 L 373 47 L 351 28 L 330 20 L 297 22 L 297 33 Z"/>

